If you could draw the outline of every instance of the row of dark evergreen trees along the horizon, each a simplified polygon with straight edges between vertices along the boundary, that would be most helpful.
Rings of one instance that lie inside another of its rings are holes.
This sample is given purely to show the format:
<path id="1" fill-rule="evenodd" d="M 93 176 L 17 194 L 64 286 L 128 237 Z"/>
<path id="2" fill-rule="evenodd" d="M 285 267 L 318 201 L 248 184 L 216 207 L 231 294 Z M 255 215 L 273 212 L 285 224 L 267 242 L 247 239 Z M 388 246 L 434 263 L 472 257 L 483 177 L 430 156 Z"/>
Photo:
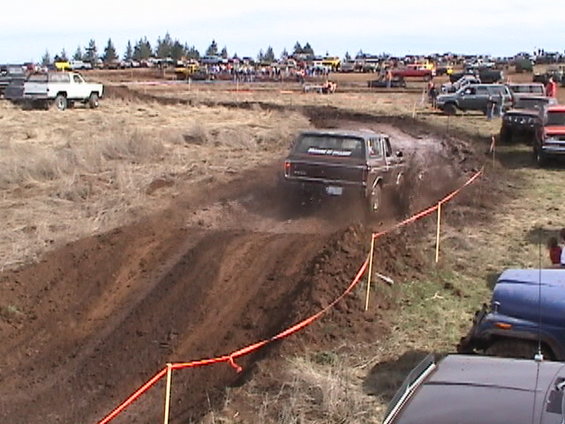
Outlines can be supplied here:
<path id="1" fill-rule="evenodd" d="M 314 49 L 310 43 L 305 43 L 302 46 L 298 41 L 294 45 L 292 55 L 314 55 Z M 229 57 L 227 47 L 223 47 L 221 50 L 216 43 L 216 40 L 212 40 L 208 48 L 206 49 L 205 56 L 220 56 L 224 59 Z M 282 59 L 288 58 L 290 55 L 285 48 L 280 57 Z M 188 43 L 181 43 L 179 40 L 173 40 L 169 33 L 165 34 L 164 37 L 157 38 L 154 45 L 151 45 L 147 37 L 140 38 L 135 44 L 132 45 L 131 41 L 128 41 L 125 51 L 123 53 L 122 59 L 124 61 L 142 61 L 147 60 L 151 57 L 166 59 L 171 58 L 172 60 L 178 61 L 182 59 L 195 59 L 201 58 L 201 54 L 198 49 Z M 234 53 L 232 57 L 238 57 L 237 53 Z M 102 60 L 104 63 L 113 63 L 120 60 L 120 56 L 112 42 L 109 38 L 106 43 L 106 47 L 102 52 L 99 52 L 96 42 L 91 39 L 88 45 L 84 47 L 78 46 L 76 51 L 72 56 L 63 49 L 60 53 L 56 54 L 53 58 L 46 51 L 41 58 L 41 64 L 47 66 L 53 61 L 68 61 L 68 60 L 82 60 L 84 62 L 96 63 L 98 60 Z M 265 50 L 261 49 L 257 54 L 258 62 L 274 62 L 276 60 L 275 52 L 271 46 L 268 46 Z"/>

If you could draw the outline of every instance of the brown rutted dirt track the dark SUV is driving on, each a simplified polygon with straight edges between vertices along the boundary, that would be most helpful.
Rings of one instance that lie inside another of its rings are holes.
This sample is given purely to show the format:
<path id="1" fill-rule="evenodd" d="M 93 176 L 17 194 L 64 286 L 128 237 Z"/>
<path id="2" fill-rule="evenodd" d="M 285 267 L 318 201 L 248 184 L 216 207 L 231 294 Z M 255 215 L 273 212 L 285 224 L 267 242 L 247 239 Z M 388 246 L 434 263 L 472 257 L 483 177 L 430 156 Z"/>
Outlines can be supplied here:
<path id="1" fill-rule="evenodd" d="M 416 166 L 405 186 L 413 210 L 464 179 L 461 149 L 432 135 L 322 121 L 392 133 Z M 1 297 L 19 308 L 0 320 L 0 421 L 95 423 L 166 362 L 228 353 L 333 300 L 362 263 L 370 230 L 337 202 L 289 208 L 278 166 L 210 183 L 156 216 L 0 275 Z M 391 243 L 402 255 L 404 240 Z M 346 301 L 339 313 L 356 309 Z M 356 325 L 381 331 L 363 318 Z M 173 422 L 198 418 L 241 378 L 224 365 L 188 373 L 175 384 Z M 155 422 L 161 397 L 151 392 L 116 422 Z"/>

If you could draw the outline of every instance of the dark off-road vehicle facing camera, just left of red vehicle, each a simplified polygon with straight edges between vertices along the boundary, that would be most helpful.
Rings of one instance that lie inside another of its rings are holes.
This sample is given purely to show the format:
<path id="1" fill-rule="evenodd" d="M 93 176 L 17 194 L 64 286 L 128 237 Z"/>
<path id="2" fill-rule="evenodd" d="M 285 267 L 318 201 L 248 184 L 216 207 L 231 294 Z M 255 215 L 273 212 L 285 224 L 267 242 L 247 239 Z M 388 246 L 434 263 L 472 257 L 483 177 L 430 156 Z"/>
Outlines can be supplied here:
<path id="1" fill-rule="evenodd" d="M 543 126 L 547 107 L 556 104 L 554 97 L 514 96 L 514 107 L 502 117 L 500 141 L 509 143 L 516 137 L 522 137 L 531 142 Z"/>

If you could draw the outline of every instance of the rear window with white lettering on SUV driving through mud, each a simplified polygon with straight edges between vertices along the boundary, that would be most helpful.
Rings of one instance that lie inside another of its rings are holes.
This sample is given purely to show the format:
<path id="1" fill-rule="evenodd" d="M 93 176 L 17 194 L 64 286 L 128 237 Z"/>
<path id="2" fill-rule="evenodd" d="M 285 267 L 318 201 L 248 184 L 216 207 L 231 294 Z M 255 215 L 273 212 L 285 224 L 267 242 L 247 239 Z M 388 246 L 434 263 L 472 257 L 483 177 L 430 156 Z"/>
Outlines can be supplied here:
<path id="1" fill-rule="evenodd" d="M 364 158 L 365 144 L 362 138 L 306 134 L 298 139 L 295 152 L 318 156 Z"/>

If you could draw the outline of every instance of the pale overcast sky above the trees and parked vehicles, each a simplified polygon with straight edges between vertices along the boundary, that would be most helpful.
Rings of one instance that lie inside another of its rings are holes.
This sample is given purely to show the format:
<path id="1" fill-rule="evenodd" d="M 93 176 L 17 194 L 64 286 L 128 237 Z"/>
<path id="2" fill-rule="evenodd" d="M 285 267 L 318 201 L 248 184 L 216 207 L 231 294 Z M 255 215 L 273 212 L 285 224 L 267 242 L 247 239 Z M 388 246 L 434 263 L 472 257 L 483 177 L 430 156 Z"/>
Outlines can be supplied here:
<path id="1" fill-rule="evenodd" d="M 111 38 L 120 56 L 128 40 L 154 45 L 169 32 L 204 53 L 215 39 L 228 53 L 278 56 L 296 41 L 317 54 L 455 52 L 507 56 L 565 50 L 562 0 L 28 0 L 7 1 L 0 15 L 0 63 L 39 61 L 90 39 Z"/>

